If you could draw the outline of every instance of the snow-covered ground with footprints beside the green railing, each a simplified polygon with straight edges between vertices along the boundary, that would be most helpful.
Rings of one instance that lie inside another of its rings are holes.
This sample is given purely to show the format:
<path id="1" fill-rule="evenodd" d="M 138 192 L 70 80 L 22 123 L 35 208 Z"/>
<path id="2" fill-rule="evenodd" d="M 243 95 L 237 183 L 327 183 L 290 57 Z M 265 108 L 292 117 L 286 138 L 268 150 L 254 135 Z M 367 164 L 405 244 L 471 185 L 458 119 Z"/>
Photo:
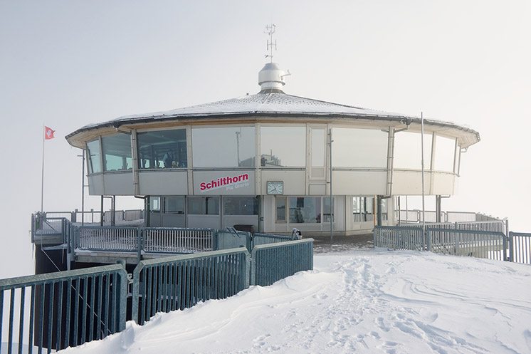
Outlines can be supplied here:
<path id="1" fill-rule="evenodd" d="M 531 353 L 531 267 L 427 252 L 315 256 L 315 270 L 65 352 Z"/>

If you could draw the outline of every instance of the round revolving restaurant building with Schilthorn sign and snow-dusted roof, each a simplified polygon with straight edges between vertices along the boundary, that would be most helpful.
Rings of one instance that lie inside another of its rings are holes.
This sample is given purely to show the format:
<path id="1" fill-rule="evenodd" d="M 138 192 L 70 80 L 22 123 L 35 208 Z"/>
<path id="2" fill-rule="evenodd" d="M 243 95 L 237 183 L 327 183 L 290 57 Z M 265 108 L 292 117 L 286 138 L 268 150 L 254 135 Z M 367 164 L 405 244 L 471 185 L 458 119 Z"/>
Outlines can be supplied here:
<path id="1" fill-rule="evenodd" d="M 89 193 L 143 196 L 147 226 L 317 236 L 330 220 L 335 234 L 395 224 L 396 197 L 422 193 L 421 119 L 288 95 L 284 76 L 267 63 L 256 95 L 76 130 L 66 139 L 87 152 Z M 424 120 L 425 194 L 453 194 L 478 141 Z"/>

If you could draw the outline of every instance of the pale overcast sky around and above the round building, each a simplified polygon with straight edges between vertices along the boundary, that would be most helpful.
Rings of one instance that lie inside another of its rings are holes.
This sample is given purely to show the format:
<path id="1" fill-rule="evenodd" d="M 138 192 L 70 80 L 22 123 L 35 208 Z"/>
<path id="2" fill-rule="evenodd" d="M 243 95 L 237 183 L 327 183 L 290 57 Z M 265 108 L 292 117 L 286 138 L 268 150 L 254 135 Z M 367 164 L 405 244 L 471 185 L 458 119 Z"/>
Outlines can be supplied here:
<path id="1" fill-rule="evenodd" d="M 79 150 L 64 136 L 120 115 L 256 93 L 265 24 L 286 93 L 449 120 L 478 130 L 443 209 L 527 226 L 531 2 L 0 0 L 0 275 L 31 254 L 40 207 L 80 207 Z M 99 199 L 89 200 L 94 207 Z M 120 204 L 117 205 L 120 207 Z M 433 207 L 429 205 L 428 207 Z M 11 269 L 11 270 L 8 270 Z"/>

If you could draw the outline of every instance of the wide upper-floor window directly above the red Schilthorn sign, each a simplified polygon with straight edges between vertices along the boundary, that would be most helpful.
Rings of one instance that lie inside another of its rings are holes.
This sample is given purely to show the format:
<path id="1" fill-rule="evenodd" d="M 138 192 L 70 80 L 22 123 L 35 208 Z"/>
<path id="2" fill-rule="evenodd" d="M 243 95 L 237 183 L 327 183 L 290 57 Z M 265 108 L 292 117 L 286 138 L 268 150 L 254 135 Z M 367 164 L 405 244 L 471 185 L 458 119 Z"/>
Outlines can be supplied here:
<path id="1" fill-rule="evenodd" d="M 194 167 L 255 166 L 254 127 L 206 127 L 191 130 Z"/>

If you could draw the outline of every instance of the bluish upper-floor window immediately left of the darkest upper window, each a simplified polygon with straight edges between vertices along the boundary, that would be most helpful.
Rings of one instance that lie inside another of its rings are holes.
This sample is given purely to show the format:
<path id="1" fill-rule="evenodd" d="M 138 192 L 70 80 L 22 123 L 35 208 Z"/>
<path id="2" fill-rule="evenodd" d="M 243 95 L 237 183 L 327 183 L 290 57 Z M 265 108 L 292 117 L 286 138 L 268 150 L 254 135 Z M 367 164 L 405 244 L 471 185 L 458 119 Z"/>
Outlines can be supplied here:
<path id="1" fill-rule="evenodd" d="M 131 135 L 117 134 L 102 137 L 104 171 L 124 171 L 132 168 Z"/>

